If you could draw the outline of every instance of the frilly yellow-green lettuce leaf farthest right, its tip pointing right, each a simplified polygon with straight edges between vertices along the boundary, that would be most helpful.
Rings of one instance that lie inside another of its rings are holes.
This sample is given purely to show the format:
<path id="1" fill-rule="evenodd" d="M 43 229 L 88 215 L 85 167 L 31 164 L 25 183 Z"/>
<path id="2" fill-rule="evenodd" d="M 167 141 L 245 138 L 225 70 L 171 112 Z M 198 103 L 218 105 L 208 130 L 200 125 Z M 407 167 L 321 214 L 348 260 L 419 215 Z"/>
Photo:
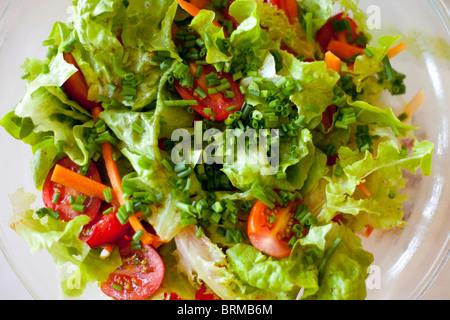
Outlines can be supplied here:
<path id="1" fill-rule="evenodd" d="M 399 150 L 393 141 L 381 142 L 375 156 L 341 147 L 339 164 L 344 173 L 340 178 L 326 178 L 327 202 L 319 217 L 330 221 L 339 213 L 350 215 L 354 230 L 362 230 L 365 225 L 377 229 L 405 225 L 402 202 L 408 197 L 399 192 L 406 182 L 403 170 L 414 174 L 420 168 L 422 174 L 429 175 L 433 150 L 429 141 L 416 141 L 409 154 Z M 362 182 L 371 197 L 364 197 L 357 189 Z"/>

